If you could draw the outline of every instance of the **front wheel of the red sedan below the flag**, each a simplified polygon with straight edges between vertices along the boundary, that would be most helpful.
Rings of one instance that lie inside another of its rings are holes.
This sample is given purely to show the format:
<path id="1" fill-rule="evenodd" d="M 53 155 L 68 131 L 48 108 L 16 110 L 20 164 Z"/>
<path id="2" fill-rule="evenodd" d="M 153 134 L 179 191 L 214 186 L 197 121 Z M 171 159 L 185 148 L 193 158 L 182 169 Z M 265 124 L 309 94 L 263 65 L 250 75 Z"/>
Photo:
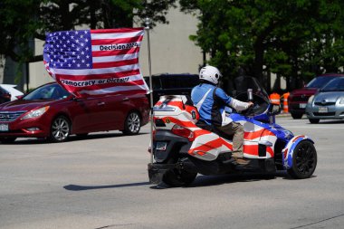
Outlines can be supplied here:
<path id="1" fill-rule="evenodd" d="M 59 116 L 56 119 L 53 119 L 49 138 L 53 142 L 62 142 L 70 136 L 70 132 L 70 121 L 64 116 Z"/>

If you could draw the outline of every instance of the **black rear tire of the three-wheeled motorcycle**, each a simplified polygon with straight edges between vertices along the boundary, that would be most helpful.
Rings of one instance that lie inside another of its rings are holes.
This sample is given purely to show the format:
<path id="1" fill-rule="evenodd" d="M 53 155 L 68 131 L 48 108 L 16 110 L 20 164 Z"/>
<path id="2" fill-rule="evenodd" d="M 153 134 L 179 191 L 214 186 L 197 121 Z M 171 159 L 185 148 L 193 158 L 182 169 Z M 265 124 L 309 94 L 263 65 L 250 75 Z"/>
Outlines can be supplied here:
<path id="1" fill-rule="evenodd" d="M 165 173 L 162 181 L 168 186 L 189 186 L 194 182 L 196 176 L 196 172 L 187 172 L 186 170 L 177 170 L 174 168 Z"/>

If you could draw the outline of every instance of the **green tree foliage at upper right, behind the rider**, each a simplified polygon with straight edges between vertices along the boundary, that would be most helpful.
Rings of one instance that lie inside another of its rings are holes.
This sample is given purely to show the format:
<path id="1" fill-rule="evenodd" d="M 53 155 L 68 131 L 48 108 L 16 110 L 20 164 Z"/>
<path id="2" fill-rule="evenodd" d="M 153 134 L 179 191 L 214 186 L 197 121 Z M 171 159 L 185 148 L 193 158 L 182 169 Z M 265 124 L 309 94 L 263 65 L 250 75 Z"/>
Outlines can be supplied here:
<path id="1" fill-rule="evenodd" d="M 288 79 L 339 72 L 344 66 L 344 2 L 326 0 L 180 0 L 198 15 L 190 36 L 209 63 L 235 76 L 239 68 L 264 81 L 265 72 Z M 266 85 L 265 85 L 266 86 Z"/>

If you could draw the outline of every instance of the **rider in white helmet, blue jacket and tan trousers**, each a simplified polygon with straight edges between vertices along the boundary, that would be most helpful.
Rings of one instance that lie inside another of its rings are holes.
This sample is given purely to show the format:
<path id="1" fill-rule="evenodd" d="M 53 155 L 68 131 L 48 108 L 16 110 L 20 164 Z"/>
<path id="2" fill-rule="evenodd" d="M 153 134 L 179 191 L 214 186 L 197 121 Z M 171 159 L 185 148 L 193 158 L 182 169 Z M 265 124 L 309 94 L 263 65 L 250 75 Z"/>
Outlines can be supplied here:
<path id="1" fill-rule="evenodd" d="M 193 88 L 191 100 L 194 102 L 200 116 L 200 120 L 227 135 L 233 136 L 232 157 L 239 165 L 246 165 L 249 160 L 244 158 L 244 127 L 234 122 L 225 115 L 225 106 L 235 110 L 246 110 L 253 106 L 253 102 L 243 102 L 228 96 L 217 85 L 222 77 L 217 68 L 205 66 L 199 72 L 200 84 Z"/>

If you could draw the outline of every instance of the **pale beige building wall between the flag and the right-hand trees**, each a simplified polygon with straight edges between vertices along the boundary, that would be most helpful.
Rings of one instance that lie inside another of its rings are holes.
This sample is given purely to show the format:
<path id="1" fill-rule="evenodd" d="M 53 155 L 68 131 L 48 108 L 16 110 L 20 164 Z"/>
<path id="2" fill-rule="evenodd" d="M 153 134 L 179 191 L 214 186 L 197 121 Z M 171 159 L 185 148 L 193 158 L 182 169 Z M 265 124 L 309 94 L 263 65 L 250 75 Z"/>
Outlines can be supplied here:
<path id="1" fill-rule="evenodd" d="M 149 32 L 152 74 L 198 73 L 203 64 L 202 51 L 188 38 L 190 34 L 196 34 L 196 17 L 176 8 L 169 10 L 167 20 L 169 24 L 158 24 Z M 139 56 L 143 75 L 149 74 L 147 38 L 146 33 Z"/>

